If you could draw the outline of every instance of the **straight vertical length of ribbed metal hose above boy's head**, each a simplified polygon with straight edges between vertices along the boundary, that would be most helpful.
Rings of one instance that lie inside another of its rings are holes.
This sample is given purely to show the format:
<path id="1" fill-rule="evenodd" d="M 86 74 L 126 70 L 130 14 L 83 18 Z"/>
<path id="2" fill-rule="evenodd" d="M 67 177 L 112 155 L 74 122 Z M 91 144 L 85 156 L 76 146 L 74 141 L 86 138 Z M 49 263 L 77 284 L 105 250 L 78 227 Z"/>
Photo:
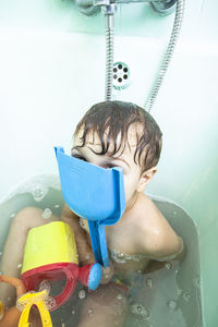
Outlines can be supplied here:
<path id="1" fill-rule="evenodd" d="M 111 4 L 112 5 L 112 4 Z M 114 7 L 108 5 L 105 11 L 106 26 L 106 86 L 105 100 L 112 100 L 112 76 L 113 76 L 113 12 Z"/>

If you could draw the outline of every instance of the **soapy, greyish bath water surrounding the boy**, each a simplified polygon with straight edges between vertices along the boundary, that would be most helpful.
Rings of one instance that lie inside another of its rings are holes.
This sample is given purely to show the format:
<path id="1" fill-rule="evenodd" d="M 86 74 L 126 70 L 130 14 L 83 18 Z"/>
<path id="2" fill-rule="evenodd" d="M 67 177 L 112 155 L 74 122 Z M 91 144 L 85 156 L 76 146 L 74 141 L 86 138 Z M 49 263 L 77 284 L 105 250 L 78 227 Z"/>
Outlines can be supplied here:
<path id="1" fill-rule="evenodd" d="M 154 199 L 157 207 L 181 235 L 186 256 L 181 264 L 166 263 L 161 269 L 147 274 L 134 272 L 134 283 L 128 295 L 125 327 L 201 327 L 201 276 L 198 263 L 198 238 L 192 219 L 173 203 Z M 9 226 L 16 213 L 26 206 L 44 209 L 43 217 L 60 216 L 63 198 L 59 180 L 55 175 L 36 177 L 16 189 L 0 204 L 0 257 Z M 64 282 L 57 286 L 60 292 Z M 51 313 L 53 327 L 76 326 L 87 290 L 77 284 L 73 296 Z M 92 307 L 88 314 L 94 315 Z"/>

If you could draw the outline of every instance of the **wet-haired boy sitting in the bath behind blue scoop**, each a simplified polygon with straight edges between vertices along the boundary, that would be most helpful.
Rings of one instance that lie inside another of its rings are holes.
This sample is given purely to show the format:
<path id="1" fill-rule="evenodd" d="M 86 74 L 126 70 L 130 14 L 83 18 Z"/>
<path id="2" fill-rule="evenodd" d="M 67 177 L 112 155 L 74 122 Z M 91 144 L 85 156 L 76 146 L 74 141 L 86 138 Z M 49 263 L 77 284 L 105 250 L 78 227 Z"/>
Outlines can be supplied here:
<path id="1" fill-rule="evenodd" d="M 105 169 L 121 167 L 126 204 L 121 219 L 106 227 L 111 266 L 102 269 L 101 283 L 105 286 L 87 296 L 80 327 L 123 326 L 126 302 L 124 291 L 121 295 L 121 288 L 126 287 L 110 281 L 113 274 L 125 278 L 130 271 L 144 272 L 150 259 L 175 259 L 183 252 L 182 239 L 143 193 L 157 171 L 160 150 L 161 132 L 156 121 L 144 109 L 130 102 L 97 104 L 76 126 L 72 156 Z M 4 250 L 3 274 L 19 276 L 15 265 L 22 262 L 27 231 L 45 223 L 40 216 L 41 211 L 36 208 L 26 208 L 17 214 Z M 80 263 L 84 265 L 95 262 L 87 221 L 77 217 L 66 205 L 61 216 L 74 231 Z M 58 217 L 52 216 L 50 219 L 56 220 Z M 21 225 L 24 227 L 23 240 L 16 246 L 14 262 L 9 264 L 5 258 L 14 253 L 11 249 Z"/>

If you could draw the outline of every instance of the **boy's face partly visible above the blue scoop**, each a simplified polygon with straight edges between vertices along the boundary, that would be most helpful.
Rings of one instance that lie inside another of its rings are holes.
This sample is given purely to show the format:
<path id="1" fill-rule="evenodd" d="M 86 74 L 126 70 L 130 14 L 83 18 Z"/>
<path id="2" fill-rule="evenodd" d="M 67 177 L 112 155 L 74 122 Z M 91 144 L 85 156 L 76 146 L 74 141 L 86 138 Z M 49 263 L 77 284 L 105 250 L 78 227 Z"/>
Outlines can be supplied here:
<path id="1" fill-rule="evenodd" d="M 131 125 L 128 133 L 129 145 L 126 144 L 123 153 L 123 147 L 114 155 L 97 155 L 96 153 L 101 152 L 101 144 L 97 133 L 89 132 L 86 136 L 86 143 L 83 147 L 81 136 L 83 135 L 83 130 L 81 129 L 78 133 L 74 136 L 72 156 L 78 159 L 85 160 L 87 162 L 94 164 L 101 168 L 112 168 L 120 167 L 123 170 L 124 179 L 124 191 L 125 191 L 125 205 L 126 209 L 131 208 L 137 197 L 138 192 L 142 192 L 142 182 L 145 181 L 142 175 L 142 168 L 140 165 L 134 162 L 134 153 L 136 147 L 136 129 Z M 106 135 L 107 137 L 107 135 Z M 118 136 L 119 138 L 119 136 Z M 119 140 L 118 140 L 119 145 Z M 109 153 L 112 153 L 113 144 L 109 146 Z M 143 180 L 142 180 L 143 179 Z M 141 186 L 141 187 L 140 187 Z"/>

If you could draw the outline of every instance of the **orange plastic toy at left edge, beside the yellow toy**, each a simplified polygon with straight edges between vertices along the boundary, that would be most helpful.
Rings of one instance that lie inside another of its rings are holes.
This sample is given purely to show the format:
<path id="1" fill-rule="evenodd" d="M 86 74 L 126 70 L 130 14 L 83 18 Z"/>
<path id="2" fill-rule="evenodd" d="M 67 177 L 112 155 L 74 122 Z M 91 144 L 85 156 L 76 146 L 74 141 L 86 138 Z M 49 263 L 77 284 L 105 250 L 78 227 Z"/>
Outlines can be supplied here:
<path id="1" fill-rule="evenodd" d="M 0 275 L 0 282 L 5 282 L 14 287 L 16 289 L 17 298 L 26 293 L 24 283 L 19 278 Z M 12 306 L 9 310 L 5 310 L 3 317 L 0 320 L 0 327 L 17 327 L 20 316 L 21 316 L 21 312 L 17 310 L 16 306 Z"/>

